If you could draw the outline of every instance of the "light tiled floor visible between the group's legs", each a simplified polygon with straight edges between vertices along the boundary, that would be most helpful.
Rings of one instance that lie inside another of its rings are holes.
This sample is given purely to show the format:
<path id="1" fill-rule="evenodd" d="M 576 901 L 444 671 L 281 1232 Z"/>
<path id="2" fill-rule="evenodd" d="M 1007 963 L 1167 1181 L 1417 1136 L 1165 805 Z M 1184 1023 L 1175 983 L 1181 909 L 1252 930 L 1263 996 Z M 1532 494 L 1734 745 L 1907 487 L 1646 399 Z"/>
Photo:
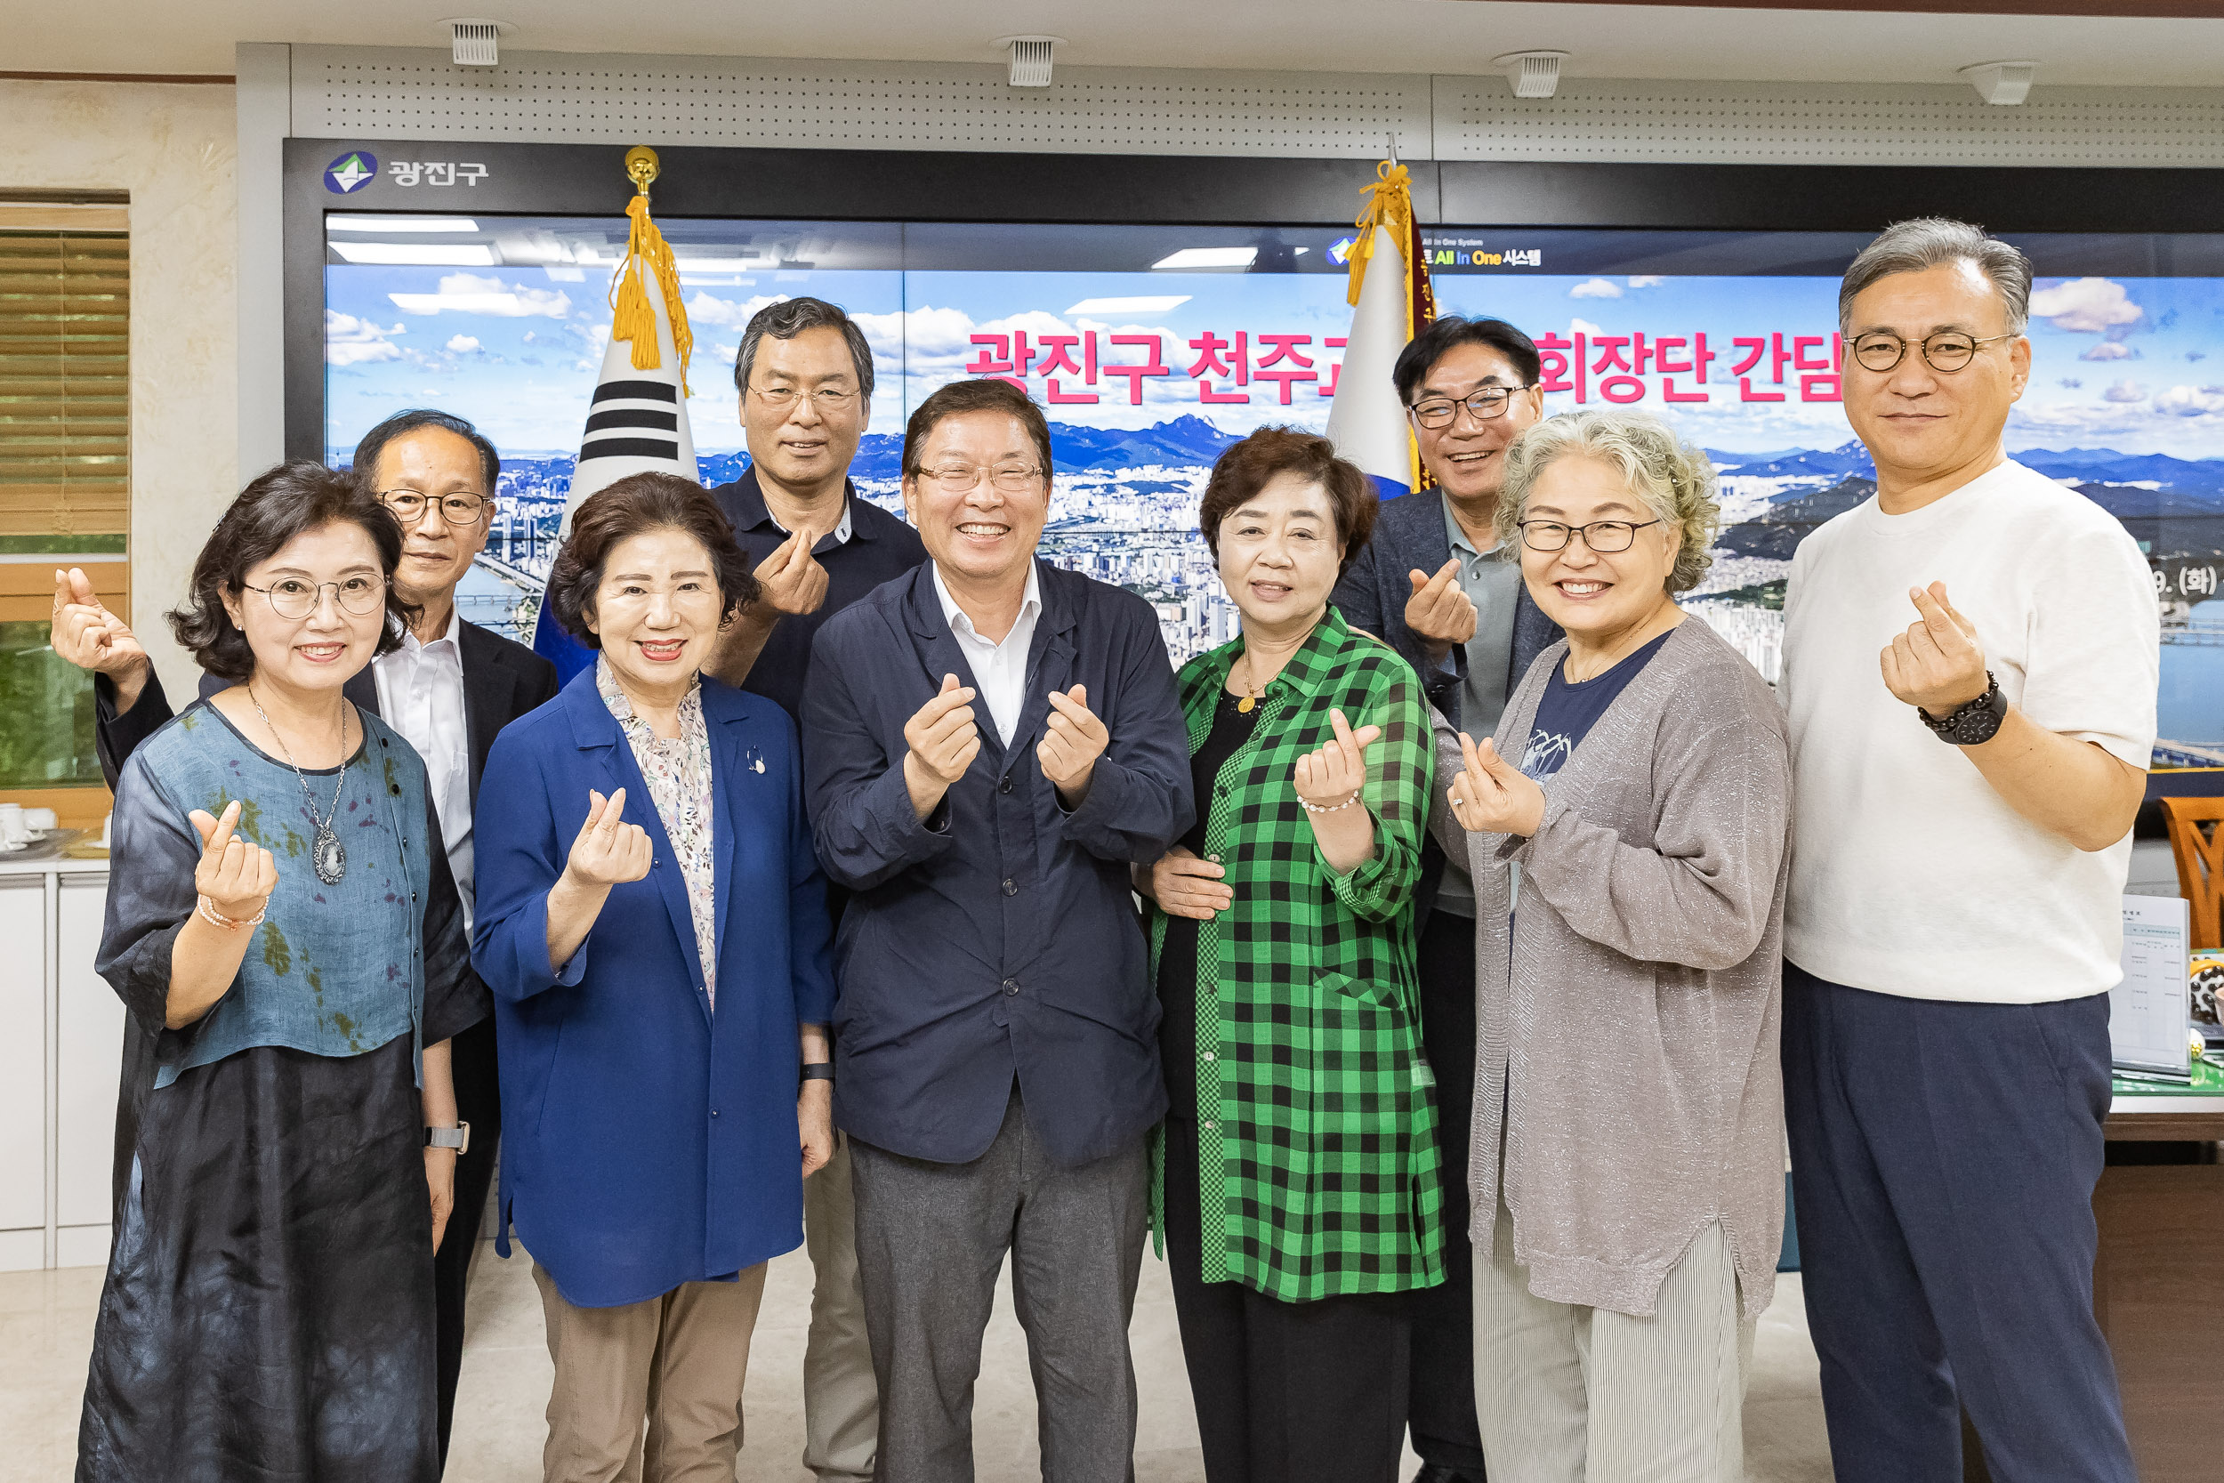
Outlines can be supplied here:
<path id="1" fill-rule="evenodd" d="M 810 1483 L 803 1454 L 803 1332 L 810 1263 L 801 1252 L 772 1263 L 749 1363 L 743 1483 Z M 78 1399 L 91 1345 L 100 1272 L 0 1274 L 0 1483 L 60 1483 L 76 1459 Z M 1197 1421 L 1181 1370 L 1165 1267 L 1143 1258 L 1134 1314 L 1134 1365 L 1143 1396 L 1136 1483 L 1201 1483 Z M 471 1332 L 463 1361 L 451 1483 L 534 1483 L 540 1476 L 540 1410 L 549 1358 L 540 1301 L 525 1258 L 483 1247 L 471 1274 Z M 1001 1294 L 976 1401 L 981 1483 L 1039 1479 L 1034 1390 L 1025 1341 Z M 1410 1459 L 1408 1459 L 1410 1472 Z M 1815 1350 L 1806 1336 L 1799 1278 L 1777 1281 L 1761 1318 L 1746 1394 L 1746 1476 L 1753 1483 L 1828 1483 Z"/>

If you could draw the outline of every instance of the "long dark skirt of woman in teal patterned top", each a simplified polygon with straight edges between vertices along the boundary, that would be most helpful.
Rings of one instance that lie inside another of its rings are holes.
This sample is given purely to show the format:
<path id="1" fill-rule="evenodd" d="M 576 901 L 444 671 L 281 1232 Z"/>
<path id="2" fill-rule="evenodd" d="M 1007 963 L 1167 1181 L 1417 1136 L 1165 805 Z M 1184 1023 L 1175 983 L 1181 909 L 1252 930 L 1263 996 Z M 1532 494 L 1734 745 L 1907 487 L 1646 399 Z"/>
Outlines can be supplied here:
<path id="1" fill-rule="evenodd" d="M 438 1483 L 409 1036 L 254 1047 L 149 1092 L 80 1483 Z"/>

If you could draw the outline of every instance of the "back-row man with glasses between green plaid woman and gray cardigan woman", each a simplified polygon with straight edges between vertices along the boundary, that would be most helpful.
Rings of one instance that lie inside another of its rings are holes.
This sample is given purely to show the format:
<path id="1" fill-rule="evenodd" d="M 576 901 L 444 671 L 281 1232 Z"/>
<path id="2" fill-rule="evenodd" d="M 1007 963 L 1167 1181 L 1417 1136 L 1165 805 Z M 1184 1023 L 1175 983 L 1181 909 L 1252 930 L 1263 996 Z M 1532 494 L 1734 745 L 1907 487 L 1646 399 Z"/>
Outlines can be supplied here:
<path id="1" fill-rule="evenodd" d="M 1386 500 L 1374 536 L 1337 583 L 1343 620 L 1390 643 L 1430 703 L 1470 736 L 1490 736 L 1530 660 L 1559 638 L 1497 558 L 1490 522 L 1506 487 L 1506 445 L 1543 416 L 1537 347 L 1503 320 L 1443 316 L 1399 356 L 1392 378 L 1437 489 Z M 1483 1476 L 1475 1421 L 1475 1314 L 1468 1236 L 1468 1112 L 1475 1101 L 1475 887 L 1434 838 L 1419 903 L 1421 1043 L 1437 1076 L 1446 1181 L 1443 1285 L 1412 1294 L 1408 1430 L 1414 1483 Z"/>

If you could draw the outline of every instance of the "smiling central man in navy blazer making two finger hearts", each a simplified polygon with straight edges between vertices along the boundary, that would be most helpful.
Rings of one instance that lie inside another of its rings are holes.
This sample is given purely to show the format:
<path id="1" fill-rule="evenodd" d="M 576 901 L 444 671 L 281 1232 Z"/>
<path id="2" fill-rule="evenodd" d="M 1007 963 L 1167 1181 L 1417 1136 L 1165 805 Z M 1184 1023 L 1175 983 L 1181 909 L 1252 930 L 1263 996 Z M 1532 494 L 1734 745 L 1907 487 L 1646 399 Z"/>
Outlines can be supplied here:
<path id="1" fill-rule="evenodd" d="M 836 936 L 834 1116 L 852 1138 L 881 1472 L 972 1479 L 996 1272 L 1041 1392 L 1048 1483 L 1123 1483 L 1159 1007 L 1128 867 L 1192 820 L 1188 729 L 1141 598 L 1034 558 L 1050 429 L 1001 380 L 912 414 L 930 563 L 827 618 L 803 696 Z"/>

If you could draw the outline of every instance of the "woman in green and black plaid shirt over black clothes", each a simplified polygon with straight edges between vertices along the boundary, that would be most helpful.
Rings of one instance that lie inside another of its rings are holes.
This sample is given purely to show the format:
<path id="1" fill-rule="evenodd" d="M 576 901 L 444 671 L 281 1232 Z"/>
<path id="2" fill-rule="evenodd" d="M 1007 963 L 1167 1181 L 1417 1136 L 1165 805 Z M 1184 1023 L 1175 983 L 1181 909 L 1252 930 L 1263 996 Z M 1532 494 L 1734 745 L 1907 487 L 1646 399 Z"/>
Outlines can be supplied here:
<path id="1" fill-rule="evenodd" d="M 1392 1483 L 1403 1294 L 1443 1281 L 1412 896 L 1430 723 L 1328 605 L 1374 489 L 1326 438 L 1230 447 L 1199 525 L 1243 638 L 1190 660 L 1197 827 L 1136 889 L 1165 1016 L 1161 1232 L 1212 1483 Z"/>

